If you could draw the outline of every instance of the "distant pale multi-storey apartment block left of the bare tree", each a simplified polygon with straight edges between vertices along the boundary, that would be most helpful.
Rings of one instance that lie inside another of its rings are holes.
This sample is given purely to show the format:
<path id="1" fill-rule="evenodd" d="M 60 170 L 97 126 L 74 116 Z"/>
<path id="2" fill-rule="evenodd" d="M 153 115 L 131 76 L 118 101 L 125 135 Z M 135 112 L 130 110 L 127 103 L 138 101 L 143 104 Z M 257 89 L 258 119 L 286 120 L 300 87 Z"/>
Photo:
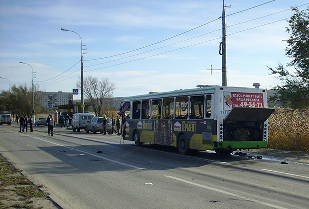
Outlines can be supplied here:
<path id="1" fill-rule="evenodd" d="M 69 101 L 73 100 L 72 92 L 37 92 L 37 94 L 43 94 L 43 96 L 40 96 L 39 102 L 50 109 L 55 106 L 69 104 Z"/>

